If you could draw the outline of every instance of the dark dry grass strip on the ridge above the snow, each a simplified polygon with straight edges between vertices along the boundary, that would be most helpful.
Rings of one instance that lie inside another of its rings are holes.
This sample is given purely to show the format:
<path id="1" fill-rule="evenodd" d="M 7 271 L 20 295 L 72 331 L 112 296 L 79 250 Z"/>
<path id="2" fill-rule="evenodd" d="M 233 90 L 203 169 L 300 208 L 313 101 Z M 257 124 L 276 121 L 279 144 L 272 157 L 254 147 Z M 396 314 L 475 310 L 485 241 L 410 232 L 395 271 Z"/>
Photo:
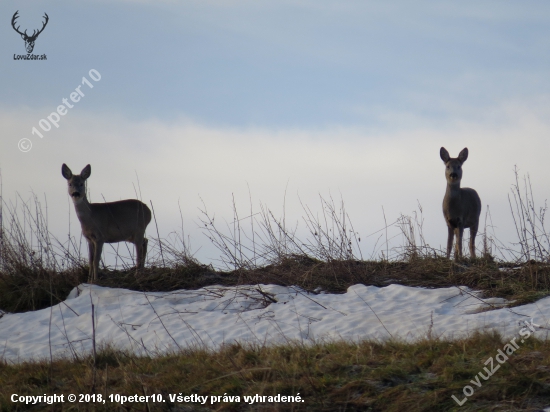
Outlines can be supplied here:
<path id="1" fill-rule="evenodd" d="M 21 271 L 0 273 L 0 309 L 24 312 L 49 307 L 64 300 L 69 291 L 85 282 L 87 268 L 63 272 Z M 134 269 L 103 271 L 97 284 L 138 291 L 198 289 L 209 285 L 277 284 L 300 286 L 316 293 L 344 293 L 355 284 L 378 287 L 389 284 L 440 288 L 468 286 L 484 297 L 501 297 L 522 305 L 550 295 L 550 265 L 529 261 L 520 265 L 478 259 L 456 263 L 437 257 L 411 261 L 330 261 L 290 256 L 278 264 L 234 271 L 214 270 L 196 262 L 172 267 L 149 267 L 139 275 Z"/>

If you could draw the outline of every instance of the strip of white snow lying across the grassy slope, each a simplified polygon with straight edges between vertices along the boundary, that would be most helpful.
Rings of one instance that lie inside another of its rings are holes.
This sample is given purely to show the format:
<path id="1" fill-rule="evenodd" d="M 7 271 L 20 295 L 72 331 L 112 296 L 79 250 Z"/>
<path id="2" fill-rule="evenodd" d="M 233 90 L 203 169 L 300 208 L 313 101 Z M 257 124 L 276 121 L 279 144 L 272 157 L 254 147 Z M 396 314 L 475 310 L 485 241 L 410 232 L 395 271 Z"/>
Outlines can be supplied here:
<path id="1" fill-rule="evenodd" d="M 52 308 L 4 313 L 0 358 L 9 362 L 74 356 L 95 341 L 152 355 L 178 348 L 219 348 L 236 341 L 272 344 L 327 339 L 414 341 L 427 336 L 459 338 L 475 330 L 517 336 L 533 319 L 535 336 L 547 339 L 550 297 L 500 307 L 503 299 L 480 299 L 466 287 L 442 289 L 354 285 L 344 294 L 308 294 L 298 287 L 212 286 L 144 293 L 83 284 Z M 0 313 L 1 315 L 1 313 Z"/>

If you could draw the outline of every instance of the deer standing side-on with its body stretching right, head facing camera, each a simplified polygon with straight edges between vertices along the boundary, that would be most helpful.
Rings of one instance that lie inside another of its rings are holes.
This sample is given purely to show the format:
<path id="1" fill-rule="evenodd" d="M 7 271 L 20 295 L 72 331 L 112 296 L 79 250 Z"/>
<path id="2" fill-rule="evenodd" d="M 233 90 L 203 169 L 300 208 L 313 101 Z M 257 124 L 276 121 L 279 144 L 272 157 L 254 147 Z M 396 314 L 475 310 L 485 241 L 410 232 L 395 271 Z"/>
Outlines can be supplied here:
<path id="1" fill-rule="evenodd" d="M 90 203 L 86 197 L 86 180 L 92 174 L 87 165 L 79 175 L 63 163 L 61 174 L 67 179 L 68 192 L 82 234 L 88 241 L 88 282 L 97 281 L 99 260 L 105 243 L 130 242 L 136 246 L 136 273 L 145 266 L 148 240 L 145 229 L 151 222 L 151 211 L 146 204 L 136 199 L 118 202 Z"/>

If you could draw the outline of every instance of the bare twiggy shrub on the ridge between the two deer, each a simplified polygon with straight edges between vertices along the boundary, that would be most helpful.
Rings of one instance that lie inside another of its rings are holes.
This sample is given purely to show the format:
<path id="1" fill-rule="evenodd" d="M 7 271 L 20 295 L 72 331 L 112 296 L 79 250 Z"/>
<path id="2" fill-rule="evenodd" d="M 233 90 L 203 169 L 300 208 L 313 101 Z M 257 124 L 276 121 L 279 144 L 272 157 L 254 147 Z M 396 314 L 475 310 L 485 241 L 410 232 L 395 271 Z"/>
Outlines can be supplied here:
<path id="1" fill-rule="evenodd" d="M 359 248 L 361 238 L 345 210 L 343 201 L 320 198 L 321 212 L 315 213 L 302 204 L 302 218 L 308 236 L 297 236 L 298 222 L 289 226 L 283 215 L 276 217 L 271 209 L 260 205 L 260 211 L 240 218 L 233 199 L 233 221 L 225 227 L 216 224 L 215 216 L 201 209 L 201 226 L 205 235 L 220 251 L 219 263 L 223 269 L 257 269 L 279 264 L 289 258 L 315 259 L 323 262 L 362 260 Z M 243 225 L 243 221 L 248 224 Z"/>

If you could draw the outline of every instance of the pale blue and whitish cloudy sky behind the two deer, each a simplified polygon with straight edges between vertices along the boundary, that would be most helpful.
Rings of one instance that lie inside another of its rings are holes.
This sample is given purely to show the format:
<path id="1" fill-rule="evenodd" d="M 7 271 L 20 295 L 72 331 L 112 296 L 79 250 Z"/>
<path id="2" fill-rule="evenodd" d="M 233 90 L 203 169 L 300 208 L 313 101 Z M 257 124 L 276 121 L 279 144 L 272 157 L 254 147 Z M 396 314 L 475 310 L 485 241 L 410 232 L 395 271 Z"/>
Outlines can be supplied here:
<path id="1" fill-rule="evenodd" d="M 14 60 L 26 54 L 17 10 L 29 34 L 48 14 L 33 51 L 47 60 Z M 343 198 L 366 256 L 383 210 L 390 223 L 420 204 L 440 247 L 441 146 L 469 148 L 463 186 L 505 243 L 514 166 L 537 204 L 550 194 L 547 1 L 4 0 L 0 17 L 4 201 L 45 196 L 59 237 L 69 214 L 80 234 L 62 163 L 92 165 L 95 202 L 133 198 L 139 183 L 161 237 L 180 230 L 181 208 L 205 262 L 217 252 L 199 228 L 201 199 L 231 221 L 233 195 L 250 214 L 249 191 L 253 212 L 262 203 L 278 216 L 286 193 L 292 222 L 300 201 L 317 213 L 319 195 Z M 78 86 L 84 96 L 44 131 Z"/>

